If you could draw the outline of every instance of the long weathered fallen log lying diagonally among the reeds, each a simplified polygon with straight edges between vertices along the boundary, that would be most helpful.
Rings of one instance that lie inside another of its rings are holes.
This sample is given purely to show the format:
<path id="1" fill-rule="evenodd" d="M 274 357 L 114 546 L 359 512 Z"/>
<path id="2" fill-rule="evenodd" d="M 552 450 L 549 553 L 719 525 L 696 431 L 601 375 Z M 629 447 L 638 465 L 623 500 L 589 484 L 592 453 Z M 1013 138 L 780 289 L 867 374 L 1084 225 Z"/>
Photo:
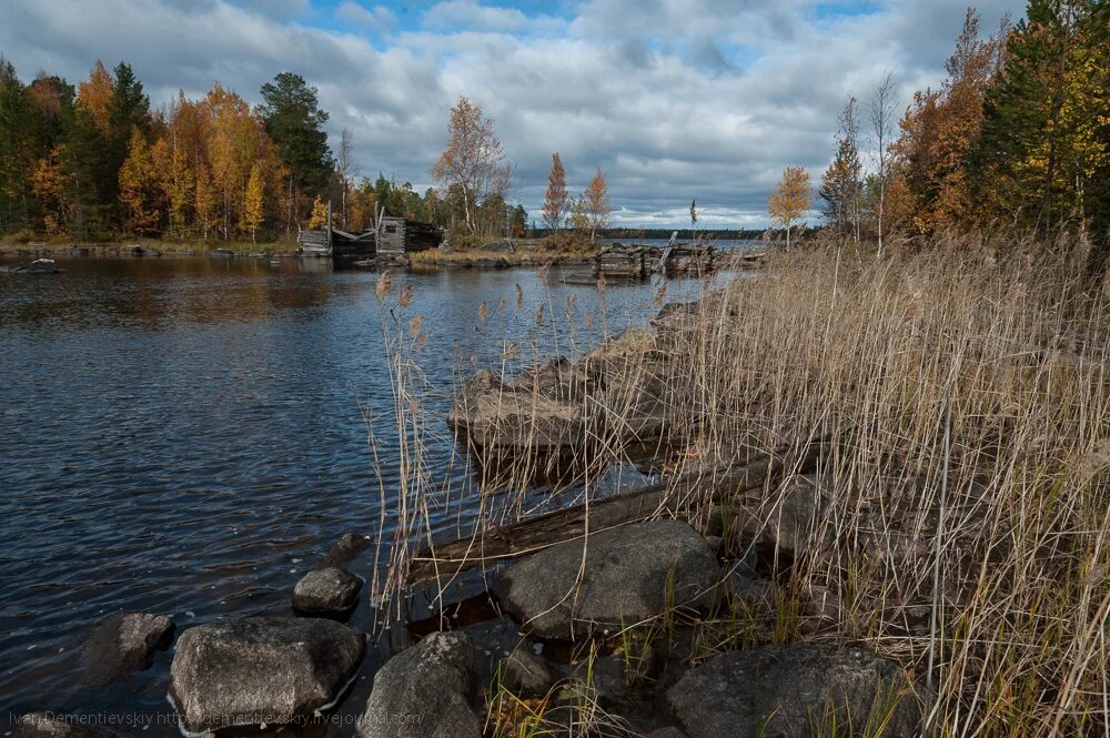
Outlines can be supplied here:
<path id="1" fill-rule="evenodd" d="M 815 442 L 801 452 L 786 449 L 758 454 L 738 466 L 685 474 L 674 482 L 647 485 L 511 525 L 477 530 L 466 538 L 433 544 L 418 550 L 410 562 L 405 582 L 408 586 L 450 582 L 470 569 L 485 568 L 565 540 L 660 515 L 689 519 L 703 503 L 709 502 L 698 494 L 706 486 L 712 489 L 713 499 L 735 502 L 745 492 L 761 487 L 784 473 L 814 471 L 827 451 L 827 443 Z"/>

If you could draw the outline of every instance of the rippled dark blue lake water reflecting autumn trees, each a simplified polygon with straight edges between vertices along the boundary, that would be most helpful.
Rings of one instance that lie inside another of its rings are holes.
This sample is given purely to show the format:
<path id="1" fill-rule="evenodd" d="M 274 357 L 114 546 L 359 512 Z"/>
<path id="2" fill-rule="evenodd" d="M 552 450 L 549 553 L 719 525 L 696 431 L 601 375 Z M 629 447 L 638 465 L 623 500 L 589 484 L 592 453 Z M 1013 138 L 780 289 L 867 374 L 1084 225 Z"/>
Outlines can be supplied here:
<path id="1" fill-rule="evenodd" d="M 164 715 L 169 654 L 88 688 L 80 638 L 119 610 L 171 615 L 179 628 L 291 614 L 293 585 L 341 534 L 376 529 L 379 485 L 397 476 L 383 337 L 393 317 L 376 273 L 327 262 L 59 262 L 63 274 L 0 275 L 0 709 L 6 721 L 37 709 Z M 526 270 L 393 280 L 394 295 L 413 285 L 396 319 L 425 316 L 431 469 L 458 487 L 467 472 L 440 418 L 460 377 L 500 365 L 503 342 L 522 346 L 519 368 L 657 311 L 657 284 L 601 295 Z M 667 299 L 697 290 L 673 281 Z M 352 569 L 370 580 L 367 554 Z M 367 596 L 352 619 L 363 628 Z M 381 658 L 372 650 L 341 714 L 364 706 Z M 176 735 L 169 721 L 123 732 Z"/>

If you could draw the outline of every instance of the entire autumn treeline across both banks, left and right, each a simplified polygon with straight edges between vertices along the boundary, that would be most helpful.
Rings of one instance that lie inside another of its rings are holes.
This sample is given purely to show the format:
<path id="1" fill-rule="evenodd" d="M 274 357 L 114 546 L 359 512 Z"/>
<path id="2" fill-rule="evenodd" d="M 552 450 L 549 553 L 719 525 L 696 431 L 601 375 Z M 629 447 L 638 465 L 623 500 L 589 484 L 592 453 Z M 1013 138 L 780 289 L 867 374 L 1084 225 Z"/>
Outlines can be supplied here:
<path id="1" fill-rule="evenodd" d="M 810 183 L 787 168 L 769 212 L 789 239 L 813 212 L 840 239 L 1061 228 L 1106 246 L 1110 231 L 1110 3 L 1031 0 L 992 33 L 969 9 L 947 78 L 897 99 L 892 74 L 840 115 L 831 164 Z M 494 122 L 461 98 L 423 193 L 360 176 L 350 132 L 337 150 L 316 90 L 278 74 L 251 107 L 219 83 L 158 110 L 132 69 L 97 63 L 75 87 L 30 82 L 0 58 L 0 234 L 105 239 L 255 239 L 333 222 L 370 226 L 382 208 L 448 228 L 458 242 L 523 235 L 513 168 Z M 547 232 L 594 237 L 610 225 L 605 173 L 568 193 L 553 154 Z M 676 193 L 676 199 L 679 194 Z M 692 209 L 693 213 L 693 209 Z M 1104 251 L 1104 250 L 1103 250 Z"/>

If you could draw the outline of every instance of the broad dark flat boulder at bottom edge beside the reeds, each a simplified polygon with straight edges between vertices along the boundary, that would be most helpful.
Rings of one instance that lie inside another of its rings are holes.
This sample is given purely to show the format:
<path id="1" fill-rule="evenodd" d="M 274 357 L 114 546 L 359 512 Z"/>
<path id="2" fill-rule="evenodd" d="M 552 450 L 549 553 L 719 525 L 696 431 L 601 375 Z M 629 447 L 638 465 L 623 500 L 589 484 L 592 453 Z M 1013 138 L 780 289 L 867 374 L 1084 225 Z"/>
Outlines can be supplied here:
<path id="1" fill-rule="evenodd" d="M 825 735 L 831 725 L 854 736 L 914 738 L 924 714 L 897 663 L 808 644 L 710 658 L 687 671 L 667 701 L 690 738 Z M 881 734 L 868 731 L 884 719 Z"/>

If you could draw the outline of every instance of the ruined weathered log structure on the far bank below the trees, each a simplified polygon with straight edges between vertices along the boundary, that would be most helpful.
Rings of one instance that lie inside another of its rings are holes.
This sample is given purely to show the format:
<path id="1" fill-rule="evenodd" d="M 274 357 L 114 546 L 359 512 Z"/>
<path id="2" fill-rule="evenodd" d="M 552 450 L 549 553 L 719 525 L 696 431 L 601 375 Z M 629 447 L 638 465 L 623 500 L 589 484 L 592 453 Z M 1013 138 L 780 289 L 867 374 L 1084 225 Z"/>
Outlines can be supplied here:
<path id="1" fill-rule="evenodd" d="M 309 256 L 387 261 L 404 261 L 407 254 L 435 249 L 443 241 L 443 229 L 438 225 L 387 215 L 384 208 L 376 220 L 372 229 L 341 231 L 332 226 L 332 209 L 327 203 L 327 226 L 322 231 L 302 230 L 296 241 L 301 253 Z"/>

